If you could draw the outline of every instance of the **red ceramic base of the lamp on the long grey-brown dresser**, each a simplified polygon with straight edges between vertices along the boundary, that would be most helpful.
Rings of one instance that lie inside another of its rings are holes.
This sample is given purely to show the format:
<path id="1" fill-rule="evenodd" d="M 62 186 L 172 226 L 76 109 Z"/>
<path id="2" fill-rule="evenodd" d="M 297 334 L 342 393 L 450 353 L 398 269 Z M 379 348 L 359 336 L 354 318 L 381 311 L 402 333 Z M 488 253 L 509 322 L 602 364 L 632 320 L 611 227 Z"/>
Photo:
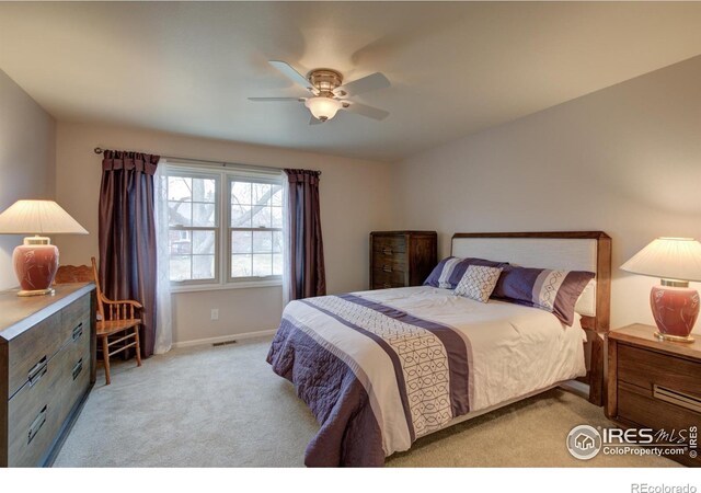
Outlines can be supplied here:
<path id="1" fill-rule="evenodd" d="M 14 273 L 21 288 L 18 296 L 54 294 L 51 284 L 58 271 L 58 248 L 48 243 L 33 244 L 35 241 L 35 238 L 25 239 L 24 244 L 16 246 L 12 253 Z"/>

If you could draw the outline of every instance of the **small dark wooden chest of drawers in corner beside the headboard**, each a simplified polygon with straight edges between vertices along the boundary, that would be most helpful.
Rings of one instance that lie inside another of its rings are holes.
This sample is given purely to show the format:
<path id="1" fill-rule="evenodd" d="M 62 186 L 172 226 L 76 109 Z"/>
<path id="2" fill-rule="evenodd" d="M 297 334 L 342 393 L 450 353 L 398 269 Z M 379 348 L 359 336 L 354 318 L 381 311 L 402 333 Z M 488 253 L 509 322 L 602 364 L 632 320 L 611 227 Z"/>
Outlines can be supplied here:
<path id="1" fill-rule="evenodd" d="M 372 231 L 370 289 L 421 286 L 436 254 L 436 231 Z"/>

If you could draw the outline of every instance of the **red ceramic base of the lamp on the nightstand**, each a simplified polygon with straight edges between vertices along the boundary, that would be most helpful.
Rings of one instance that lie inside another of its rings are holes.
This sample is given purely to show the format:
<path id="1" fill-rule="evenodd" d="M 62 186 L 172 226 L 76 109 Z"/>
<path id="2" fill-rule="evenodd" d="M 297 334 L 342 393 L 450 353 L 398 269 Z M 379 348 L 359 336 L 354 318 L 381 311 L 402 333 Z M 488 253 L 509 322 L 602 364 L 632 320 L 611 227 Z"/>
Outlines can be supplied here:
<path id="1" fill-rule="evenodd" d="M 659 332 L 658 339 L 693 342 L 689 334 L 699 317 L 699 293 L 689 287 L 654 286 L 650 305 Z"/>

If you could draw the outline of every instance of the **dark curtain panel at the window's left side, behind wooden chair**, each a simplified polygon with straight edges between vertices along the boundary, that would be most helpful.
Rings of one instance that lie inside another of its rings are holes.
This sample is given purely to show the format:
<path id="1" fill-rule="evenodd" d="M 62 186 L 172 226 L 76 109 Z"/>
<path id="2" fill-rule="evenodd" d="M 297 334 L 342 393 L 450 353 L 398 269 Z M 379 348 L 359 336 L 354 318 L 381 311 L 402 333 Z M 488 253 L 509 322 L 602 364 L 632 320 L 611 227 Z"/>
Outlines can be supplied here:
<path id="1" fill-rule="evenodd" d="M 100 279 L 111 299 L 135 299 L 141 312 L 141 356 L 156 342 L 153 173 L 160 157 L 105 150 L 100 185 Z"/>

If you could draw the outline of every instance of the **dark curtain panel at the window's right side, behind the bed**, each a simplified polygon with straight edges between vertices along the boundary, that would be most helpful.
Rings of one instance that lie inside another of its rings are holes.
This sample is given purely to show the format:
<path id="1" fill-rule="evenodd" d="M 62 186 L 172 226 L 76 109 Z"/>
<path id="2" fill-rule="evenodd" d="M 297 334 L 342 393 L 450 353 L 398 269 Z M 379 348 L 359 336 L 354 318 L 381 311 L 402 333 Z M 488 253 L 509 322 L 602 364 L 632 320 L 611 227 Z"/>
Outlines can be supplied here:
<path id="1" fill-rule="evenodd" d="M 285 170 L 289 181 L 289 299 L 326 294 L 319 171 Z"/>

